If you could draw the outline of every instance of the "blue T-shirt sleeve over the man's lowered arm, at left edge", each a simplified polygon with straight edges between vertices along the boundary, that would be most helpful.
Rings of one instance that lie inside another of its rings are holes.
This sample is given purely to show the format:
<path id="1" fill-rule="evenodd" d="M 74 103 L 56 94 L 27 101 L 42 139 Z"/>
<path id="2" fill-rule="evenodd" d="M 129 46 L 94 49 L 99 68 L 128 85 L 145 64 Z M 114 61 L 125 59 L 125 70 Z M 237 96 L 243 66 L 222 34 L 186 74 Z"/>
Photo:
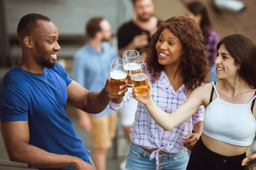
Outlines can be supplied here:
<path id="1" fill-rule="evenodd" d="M 28 121 L 29 100 L 17 88 L 0 92 L 0 122 Z"/>

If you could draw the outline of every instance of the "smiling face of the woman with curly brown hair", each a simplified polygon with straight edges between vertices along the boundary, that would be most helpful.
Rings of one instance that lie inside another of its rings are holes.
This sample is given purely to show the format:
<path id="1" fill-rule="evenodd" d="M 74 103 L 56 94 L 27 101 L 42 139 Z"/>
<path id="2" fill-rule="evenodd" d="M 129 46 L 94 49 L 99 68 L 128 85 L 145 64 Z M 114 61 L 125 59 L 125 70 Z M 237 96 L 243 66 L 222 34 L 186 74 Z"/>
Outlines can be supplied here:
<path id="1" fill-rule="evenodd" d="M 183 55 L 182 42 L 168 28 L 165 28 L 160 34 L 156 50 L 159 64 L 180 65 Z"/>

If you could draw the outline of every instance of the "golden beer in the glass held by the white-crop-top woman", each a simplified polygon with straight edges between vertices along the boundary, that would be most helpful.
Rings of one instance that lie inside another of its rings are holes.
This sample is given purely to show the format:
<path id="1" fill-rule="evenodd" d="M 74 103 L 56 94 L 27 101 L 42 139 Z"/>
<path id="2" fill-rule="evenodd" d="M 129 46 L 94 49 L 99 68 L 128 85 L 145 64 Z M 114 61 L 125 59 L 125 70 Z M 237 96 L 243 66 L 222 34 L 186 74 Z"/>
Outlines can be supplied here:
<path id="1" fill-rule="evenodd" d="M 146 74 L 134 74 L 131 76 L 131 80 L 140 97 L 147 96 L 149 94 L 148 76 Z"/>

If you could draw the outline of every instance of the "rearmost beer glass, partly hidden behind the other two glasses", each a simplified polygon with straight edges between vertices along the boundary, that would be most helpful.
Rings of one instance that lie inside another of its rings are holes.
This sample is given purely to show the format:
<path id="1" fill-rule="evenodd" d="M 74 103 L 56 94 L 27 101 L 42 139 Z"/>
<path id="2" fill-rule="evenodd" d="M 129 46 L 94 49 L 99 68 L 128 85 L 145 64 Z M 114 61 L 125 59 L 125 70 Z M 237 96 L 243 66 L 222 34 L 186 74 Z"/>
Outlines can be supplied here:
<path id="1" fill-rule="evenodd" d="M 128 63 L 131 63 L 131 62 L 134 62 L 134 61 L 140 61 L 140 54 L 136 50 L 128 50 L 128 51 L 125 51 L 123 53 L 123 59 L 127 60 Z M 128 74 L 128 77 L 127 77 L 128 88 L 131 88 L 132 81 L 131 81 L 131 78 L 130 78 L 130 72 L 129 72 L 128 65 L 125 66 L 125 70 L 128 71 L 128 73 L 127 73 Z"/>

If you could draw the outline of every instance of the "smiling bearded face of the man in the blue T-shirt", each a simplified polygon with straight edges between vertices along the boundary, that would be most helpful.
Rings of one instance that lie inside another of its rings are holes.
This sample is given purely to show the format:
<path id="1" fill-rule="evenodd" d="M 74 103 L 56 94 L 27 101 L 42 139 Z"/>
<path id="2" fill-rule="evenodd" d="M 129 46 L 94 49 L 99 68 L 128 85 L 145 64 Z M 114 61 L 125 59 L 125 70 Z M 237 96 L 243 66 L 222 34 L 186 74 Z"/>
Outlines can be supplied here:
<path id="1" fill-rule="evenodd" d="M 38 20 L 38 26 L 32 36 L 33 58 L 46 68 L 54 68 L 58 51 L 61 49 L 57 42 L 58 29 L 52 22 L 44 20 Z"/>

